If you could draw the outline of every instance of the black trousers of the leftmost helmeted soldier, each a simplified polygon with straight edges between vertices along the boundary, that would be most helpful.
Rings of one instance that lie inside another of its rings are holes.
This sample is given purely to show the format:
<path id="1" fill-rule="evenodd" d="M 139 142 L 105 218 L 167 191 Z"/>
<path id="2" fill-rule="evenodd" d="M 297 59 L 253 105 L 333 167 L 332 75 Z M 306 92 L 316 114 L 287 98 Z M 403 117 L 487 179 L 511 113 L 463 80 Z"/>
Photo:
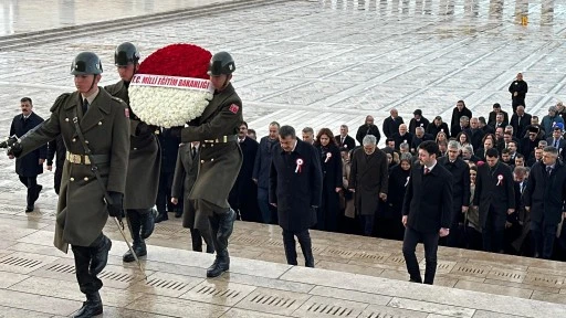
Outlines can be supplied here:
<path id="1" fill-rule="evenodd" d="M 91 244 L 91 246 L 71 245 L 75 256 L 76 282 L 78 283 L 81 293 L 85 295 L 98 292 L 103 285 L 102 280 L 96 277 L 96 275 L 92 275 L 88 271 L 92 259 L 93 246 L 99 245 L 99 242 L 103 240 L 103 237 L 104 234 L 101 233 L 98 239 L 96 239 L 93 244 Z"/>

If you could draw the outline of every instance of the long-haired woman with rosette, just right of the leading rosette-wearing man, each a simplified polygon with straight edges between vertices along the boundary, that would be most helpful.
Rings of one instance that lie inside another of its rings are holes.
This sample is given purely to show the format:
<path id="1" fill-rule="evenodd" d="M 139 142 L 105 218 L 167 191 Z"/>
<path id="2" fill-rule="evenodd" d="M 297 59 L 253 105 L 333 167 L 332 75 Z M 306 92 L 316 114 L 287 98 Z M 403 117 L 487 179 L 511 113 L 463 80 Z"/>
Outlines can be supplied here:
<path id="1" fill-rule="evenodd" d="M 336 232 L 338 230 L 338 192 L 342 190 L 342 157 L 332 130 L 318 131 L 314 146 L 321 153 L 323 169 L 323 198 L 316 216 L 316 229 Z"/>

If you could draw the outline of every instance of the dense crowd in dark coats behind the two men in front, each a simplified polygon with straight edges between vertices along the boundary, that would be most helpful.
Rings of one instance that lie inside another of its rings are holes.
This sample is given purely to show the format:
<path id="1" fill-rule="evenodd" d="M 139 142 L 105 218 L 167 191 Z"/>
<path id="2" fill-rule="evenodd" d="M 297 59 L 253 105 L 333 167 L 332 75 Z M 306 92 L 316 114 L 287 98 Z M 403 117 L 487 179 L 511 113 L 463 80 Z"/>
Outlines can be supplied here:
<path id="1" fill-rule="evenodd" d="M 315 134 L 305 127 L 302 139 L 318 150 L 323 170 L 323 197 L 314 229 L 402 240 L 405 226 L 400 220 L 409 174 L 419 163 L 421 142 L 432 140 L 439 147 L 438 161 L 452 173 L 454 187 L 450 235 L 441 240 L 442 245 L 563 257 L 566 234 L 560 235 L 558 225 L 566 209 L 560 206 L 551 213 L 548 203 L 536 206 L 535 198 L 543 195 L 544 202 L 551 194 L 530 181 L 533 169 L 562 167 L 566 156 L 566 107 L 558 102 L 542 118 L 528 114 L 524 106 L 526 87 L 518 74 L 510 86 L 512 114 L 495 103 L 489 114 L 474 116 L 464 100 L 458 100 L 449 123 L 441 116 L 429 120 L 421 109 L 415 109 L 407 123 L 394 108 L 382 120 L 381 129 L 373 116 L 367 116 L 354 137 L 346 125 L 336 136 L 328 128 Z M 255 131 L 248 130 L 245 123 L 240 126 L 247 168 L 240 171 L 230 204 L 241 220 L 277 223 L 276 209 L 269 204 L 268 193 L 279 128 L 277 123 L 271 123 L 269 135 L 256 142 Z M 373 137 L 366 140 L 368 145 L 364 144 L 366 136 Z M 384 137 L 385 147 L 377 149 L 378 156 L 364 156 L 373 153 L 371 147 L 376 148 Z M 366 146 L 369 149 L 364 149 Z M 555 161 L 551 157 L 556 157 Z M 544 187 L 553 187 L 552 193 L 562 195 L 566 186 L 558 183 L 562 173 L 562 169 L 554 169 L 552 183 L 543 182 Z M 563 197 L 556 200 L 564 202 Z M 551 232 L 560 240 L 551 240 Z M 555 244 L 559 248 L 543 252 Z"/>

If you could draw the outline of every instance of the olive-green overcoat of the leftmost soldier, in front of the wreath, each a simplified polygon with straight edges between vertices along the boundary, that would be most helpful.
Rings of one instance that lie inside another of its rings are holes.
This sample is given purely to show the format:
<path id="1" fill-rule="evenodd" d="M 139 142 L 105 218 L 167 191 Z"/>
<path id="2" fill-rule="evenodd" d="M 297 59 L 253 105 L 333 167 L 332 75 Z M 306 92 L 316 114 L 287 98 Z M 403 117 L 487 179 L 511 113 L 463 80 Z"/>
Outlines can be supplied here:
<path id="1" fill-rule="evenodd" d="M 84 157 L 73 118 L 93 155 L 107 155 L 97 165 L 107 191 L 124 193 L 129 150 L 129 119 L 126 105 L 104 89 L 93 100 L 86 115 L 81 110 L 81 94 L 61 95 L 51 108 L 51 117 L 33 134 L 22 139 L 22 155 L 33 151 L 61 135 L 70 153 Z M 54 245 L 67 252 L 69 244 L 88 246 L 101 235 L 108 219 L 104 192 L 91 166 L 65 160 L 57 204 Z"/>

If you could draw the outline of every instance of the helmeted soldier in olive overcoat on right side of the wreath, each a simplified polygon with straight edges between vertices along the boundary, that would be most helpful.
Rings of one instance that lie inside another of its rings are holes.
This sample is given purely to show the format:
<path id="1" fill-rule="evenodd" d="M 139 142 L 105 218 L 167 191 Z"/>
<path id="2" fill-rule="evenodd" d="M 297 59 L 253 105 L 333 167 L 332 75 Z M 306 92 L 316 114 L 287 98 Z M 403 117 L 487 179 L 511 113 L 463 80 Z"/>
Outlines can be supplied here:
<path id="1" fill-rule="evenodd" d="M 196 222 L 208 218 L 212 243 L 217 251 L 207 277 L 217 277 L 230 267 L 228 239 L 232 234 L 235 212 L 228 204 L 228 194 L 242 166 L 242 150 L 238 145 L 238 129 L 243 121 L 242 100 L 230 83 L 235 70 L 234 60 L 219 52 L 210 61 L 208 74 L 214 86 L 214 96 L 202 115 L 180 128 L 181 142 L 200 141 L 200 168 L 189 195 L 196 200 Z M 200 230 L 200 229 L 199 229 Z"/>

